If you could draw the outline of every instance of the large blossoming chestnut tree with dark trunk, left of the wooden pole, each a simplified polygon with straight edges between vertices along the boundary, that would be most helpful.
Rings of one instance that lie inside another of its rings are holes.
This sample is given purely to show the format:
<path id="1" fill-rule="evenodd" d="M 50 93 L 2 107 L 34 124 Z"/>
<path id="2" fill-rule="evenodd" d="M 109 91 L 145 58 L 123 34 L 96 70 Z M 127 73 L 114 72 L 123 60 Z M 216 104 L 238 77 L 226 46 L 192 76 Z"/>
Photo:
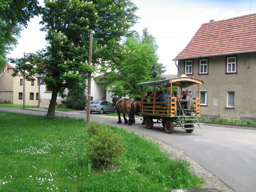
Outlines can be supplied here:
<path id="1" fill-rule="evenodd" d="M 54 117 L 58 94 L 79 86 L 100 60 L 111 60 L 122 36 L 137 20 L 137 7 L 130 0 L 46 0 L 42 30 L 48 32 L 46 50 L 15 61 L 18 72 L 30 80 L 43 74 L 42 83 L 52 89 L 47 117 Z M 94 31 L 92 63 L 88 64 L 90 30 Z M 25 73 L 24 73 L 25 72 Z"/>

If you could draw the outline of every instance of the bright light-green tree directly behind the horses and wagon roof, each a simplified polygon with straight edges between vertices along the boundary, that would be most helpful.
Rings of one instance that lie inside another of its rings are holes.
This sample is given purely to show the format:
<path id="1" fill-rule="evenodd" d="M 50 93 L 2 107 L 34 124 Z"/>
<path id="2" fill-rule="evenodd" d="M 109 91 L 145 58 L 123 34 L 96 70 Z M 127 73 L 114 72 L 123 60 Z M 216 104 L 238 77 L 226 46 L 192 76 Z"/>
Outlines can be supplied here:
<path id="1" fill-rule="evenodd" d="M 122 43 L 119 55 L 102 67 L 104 81 L 102 89 L 112 92 L 113 96 L 131 97 L 140 96 L 140 87 L 136 84 L 152 80 L 160 80 L 165 71 L 164 66 L 158 63 L 155 38 L 143 30 L 140 37 L 138 33 L 126 38 Z"/>

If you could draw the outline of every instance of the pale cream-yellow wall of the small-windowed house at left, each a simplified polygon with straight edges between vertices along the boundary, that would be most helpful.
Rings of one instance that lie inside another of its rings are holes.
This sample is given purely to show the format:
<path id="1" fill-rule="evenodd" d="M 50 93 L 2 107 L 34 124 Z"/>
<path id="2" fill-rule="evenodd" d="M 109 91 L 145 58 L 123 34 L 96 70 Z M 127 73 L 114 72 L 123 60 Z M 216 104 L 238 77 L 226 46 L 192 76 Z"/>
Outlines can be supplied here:
<path id="1" fill-rule="evenodd" d="M 13 78 L 13 104 L 23 104 L 23 99 L 19 99 L 19 92 L 23 95 L 23 85 L 20 85 L 20 79 L 23 77 L 16 76 Z M 34 98 L 30 98 L 30 93 L 34 93 Z M 36 93 L 38 93 L 37 79 L 34 81 L 34 85 L 31 85 L 31 81 L 25 80 L 25 104 L 38 106 L 38 100 L 36 99 Z"/>

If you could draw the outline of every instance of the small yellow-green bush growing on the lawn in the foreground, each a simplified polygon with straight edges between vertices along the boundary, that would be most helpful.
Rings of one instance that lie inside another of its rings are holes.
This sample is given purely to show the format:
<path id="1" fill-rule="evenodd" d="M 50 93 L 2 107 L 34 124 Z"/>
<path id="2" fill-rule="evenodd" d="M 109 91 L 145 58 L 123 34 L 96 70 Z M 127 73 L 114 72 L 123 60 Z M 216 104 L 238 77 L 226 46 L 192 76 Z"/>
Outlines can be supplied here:
<path id="1" fill-rule="evenodd" d="M 94 168 L 107 169 L 116 164 L 125 151 L 122 135 L 114 133 L 106 125 L 90 122 L 88 126 L 90 139 L 87 152 Z"/>

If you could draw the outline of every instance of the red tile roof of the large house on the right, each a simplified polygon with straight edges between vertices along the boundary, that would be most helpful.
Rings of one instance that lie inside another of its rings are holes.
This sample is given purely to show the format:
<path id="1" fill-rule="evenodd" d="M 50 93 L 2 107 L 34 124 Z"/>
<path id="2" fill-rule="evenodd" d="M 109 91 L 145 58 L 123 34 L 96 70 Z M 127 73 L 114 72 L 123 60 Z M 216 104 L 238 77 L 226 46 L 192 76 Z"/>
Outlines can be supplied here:
<path id="1" fill-rule="evenodd" d="M 256 51 L 256 14 L 202 24 L 176 59 Z"/>

